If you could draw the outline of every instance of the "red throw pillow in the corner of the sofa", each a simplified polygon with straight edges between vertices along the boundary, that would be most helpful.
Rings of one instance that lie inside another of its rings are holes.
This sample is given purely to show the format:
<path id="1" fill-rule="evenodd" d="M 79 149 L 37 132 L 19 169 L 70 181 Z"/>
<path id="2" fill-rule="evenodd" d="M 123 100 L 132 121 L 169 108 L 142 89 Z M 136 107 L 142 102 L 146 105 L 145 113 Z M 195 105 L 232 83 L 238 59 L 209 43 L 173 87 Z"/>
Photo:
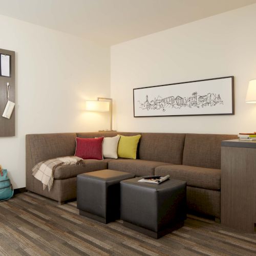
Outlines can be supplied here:
<path id="1" fill-rule="evenodd" d="M 102 142 L 104 137 L 100 138 L 76 138 L 76 153 L 75 156 L 82 159 L 97 159 L 103 160 Z"/>

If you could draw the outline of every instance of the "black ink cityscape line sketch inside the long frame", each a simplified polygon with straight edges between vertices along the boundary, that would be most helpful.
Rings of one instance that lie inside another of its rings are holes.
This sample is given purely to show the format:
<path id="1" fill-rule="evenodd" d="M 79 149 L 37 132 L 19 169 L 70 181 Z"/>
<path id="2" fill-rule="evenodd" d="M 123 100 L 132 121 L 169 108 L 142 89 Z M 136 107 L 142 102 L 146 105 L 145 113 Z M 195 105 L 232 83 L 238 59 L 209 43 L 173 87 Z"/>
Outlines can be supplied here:
<path id="1" fill-rule="evenodd" d="M 189 97 L 181 97 L 179 95 L 168 96 L 162 98 L 160 95 L 158 97 L 149 100 L 146 95 L 144 102 L 139 102 L 139 108 L 141 110 L 161 110 L 165 112 L 166 109 L 182 109 L 182 108 L 210 108 L 216 105 L 224 105 L 223 100 L 221 99 L 220 94 L 216 93 L 207 93 L 206 95 L 199 95 L 197 92 L 192 93 Z"/>

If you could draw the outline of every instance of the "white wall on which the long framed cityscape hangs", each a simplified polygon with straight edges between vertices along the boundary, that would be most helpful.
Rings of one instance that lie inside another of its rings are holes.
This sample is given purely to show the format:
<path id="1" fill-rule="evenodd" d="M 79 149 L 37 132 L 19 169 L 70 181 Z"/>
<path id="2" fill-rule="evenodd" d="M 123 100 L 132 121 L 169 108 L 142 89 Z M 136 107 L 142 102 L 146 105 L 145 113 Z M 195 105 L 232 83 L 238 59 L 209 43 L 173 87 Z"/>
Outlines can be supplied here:
<path id="1" fill-rule="evenodd" d="M 118 131 L 237 134 L 256 132 L 256 5 L 111 47 L 111 97 Z M 133 88 L 234 76 L 235 115 L 133 117 Z"/>

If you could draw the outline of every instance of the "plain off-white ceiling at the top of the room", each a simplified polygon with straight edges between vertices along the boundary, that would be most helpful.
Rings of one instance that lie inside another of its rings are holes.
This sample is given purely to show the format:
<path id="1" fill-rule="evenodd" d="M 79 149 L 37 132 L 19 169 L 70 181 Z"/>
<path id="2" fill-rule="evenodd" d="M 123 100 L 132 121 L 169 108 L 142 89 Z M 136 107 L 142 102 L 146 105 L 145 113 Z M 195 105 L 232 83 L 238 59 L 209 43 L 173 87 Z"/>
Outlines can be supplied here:
<path id="1" fill-rule="evenodd" d="M 0 0 L 0 15 L 110 46 L 254 3 L 256 0 Z"/>

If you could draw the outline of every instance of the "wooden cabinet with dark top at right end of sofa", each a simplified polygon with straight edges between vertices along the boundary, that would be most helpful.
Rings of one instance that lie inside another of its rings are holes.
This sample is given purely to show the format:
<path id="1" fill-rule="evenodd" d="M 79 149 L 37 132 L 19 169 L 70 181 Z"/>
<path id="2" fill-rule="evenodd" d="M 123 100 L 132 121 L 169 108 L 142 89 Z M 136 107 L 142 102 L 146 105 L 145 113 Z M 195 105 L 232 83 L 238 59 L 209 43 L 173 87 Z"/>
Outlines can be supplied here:
<path id="1" fill-rule="evenodd" d="M 221 143 L 221 223 L 255 232 L 256 141 Z"/>

